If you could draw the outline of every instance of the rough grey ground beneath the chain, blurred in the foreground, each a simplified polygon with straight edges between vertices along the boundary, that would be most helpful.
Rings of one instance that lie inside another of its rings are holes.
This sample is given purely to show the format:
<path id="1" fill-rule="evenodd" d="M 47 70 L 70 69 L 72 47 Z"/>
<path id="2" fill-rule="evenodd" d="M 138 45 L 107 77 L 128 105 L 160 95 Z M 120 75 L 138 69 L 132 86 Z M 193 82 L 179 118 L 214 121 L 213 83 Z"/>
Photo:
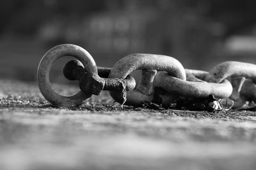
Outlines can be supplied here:
<path id="1" fill-rule="evenodd" d="M 0 169 L 256 169 L 256 112 L 54 108 L 36 83 L 0 81 Z M 73 87 L 56 85 L 60 92 Z"/>

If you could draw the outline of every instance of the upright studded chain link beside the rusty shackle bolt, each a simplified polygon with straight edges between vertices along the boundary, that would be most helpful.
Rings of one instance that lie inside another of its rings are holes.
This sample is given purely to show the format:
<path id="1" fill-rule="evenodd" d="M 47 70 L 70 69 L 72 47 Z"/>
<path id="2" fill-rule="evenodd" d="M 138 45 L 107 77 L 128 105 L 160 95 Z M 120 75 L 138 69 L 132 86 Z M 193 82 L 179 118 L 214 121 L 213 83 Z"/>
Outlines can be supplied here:
<path id="1" fill-rule="evenodd" d="M 129 92 L 114 92 L 109 94 L 121 104 L 140 105 L 143 102 L 151 102 L 154 98 L 153 80 L 156 71 L 166 71 L 168 74 L 186 80 L 184 67 L 173 57 L 166 55 L 154 55 L 135 53 L 118 60 L 109 73 L 109 78 L 121 78 L 137 69 L 142 70 L 142 78 L 138 87 Z"/>

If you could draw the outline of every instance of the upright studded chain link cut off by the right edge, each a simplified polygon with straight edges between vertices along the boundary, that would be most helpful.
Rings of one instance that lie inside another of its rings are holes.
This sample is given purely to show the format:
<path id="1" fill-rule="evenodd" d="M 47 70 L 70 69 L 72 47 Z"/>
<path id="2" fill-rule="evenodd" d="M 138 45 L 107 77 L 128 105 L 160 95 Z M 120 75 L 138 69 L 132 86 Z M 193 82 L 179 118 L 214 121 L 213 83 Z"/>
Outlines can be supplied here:
<path id="1" fill-rule="evenodd" d="M 227 61 L 213 67 L 205 77 L 206 81 L 220 82 L 231 76 L 233 87 L 230 99 L 234 101 L 232 108 L 243 108 L 248 101 L 255 101 L 256 65 L 246 62 Z M 250 78 L 249 80 L 246 78 Z"/>

